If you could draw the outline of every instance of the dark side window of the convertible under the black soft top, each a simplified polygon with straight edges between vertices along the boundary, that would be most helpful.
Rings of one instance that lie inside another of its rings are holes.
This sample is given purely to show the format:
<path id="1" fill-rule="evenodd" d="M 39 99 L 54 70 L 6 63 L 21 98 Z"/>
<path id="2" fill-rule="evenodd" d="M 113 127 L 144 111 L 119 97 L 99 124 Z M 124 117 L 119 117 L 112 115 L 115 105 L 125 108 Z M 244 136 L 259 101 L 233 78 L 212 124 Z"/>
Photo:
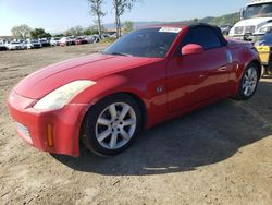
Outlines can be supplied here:
<path id="1" fill-rule="evenodd" d="M 222 47 L 218 35 L 209 27 L 191 28 L 183 38 L 178 49 L 181 50 L 188 44 L 198 44 L 202 46 L 205 50 Z"/>

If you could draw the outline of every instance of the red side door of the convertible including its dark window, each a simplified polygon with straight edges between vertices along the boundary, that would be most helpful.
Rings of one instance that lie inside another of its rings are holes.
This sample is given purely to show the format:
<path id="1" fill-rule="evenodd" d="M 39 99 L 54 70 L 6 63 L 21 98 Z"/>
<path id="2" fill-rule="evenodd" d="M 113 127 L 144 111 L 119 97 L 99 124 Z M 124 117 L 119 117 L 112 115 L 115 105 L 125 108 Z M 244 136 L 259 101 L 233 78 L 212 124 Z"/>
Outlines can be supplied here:
<path id="1" fill-rule="evenodd" d="M 181 55 L 188 44 L 203 47 L 197 55 Z M 166 69 L 168 108 L 174 112 L 226 95 L 230 71 L 227 48 L 209 27 L 191 28 Z"/>

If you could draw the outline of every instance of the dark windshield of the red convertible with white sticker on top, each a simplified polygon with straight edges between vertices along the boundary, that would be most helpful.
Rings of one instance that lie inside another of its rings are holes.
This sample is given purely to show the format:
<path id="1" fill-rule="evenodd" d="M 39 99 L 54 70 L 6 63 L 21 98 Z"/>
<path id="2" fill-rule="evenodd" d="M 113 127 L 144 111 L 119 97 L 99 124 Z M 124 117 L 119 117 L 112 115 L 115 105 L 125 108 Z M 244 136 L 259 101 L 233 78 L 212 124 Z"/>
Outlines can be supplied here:
<path id="1" fill-rule="evenodd" d="M 181 28 L 144 28 L 124 35 L 106 55 L 163 58 Z"/>

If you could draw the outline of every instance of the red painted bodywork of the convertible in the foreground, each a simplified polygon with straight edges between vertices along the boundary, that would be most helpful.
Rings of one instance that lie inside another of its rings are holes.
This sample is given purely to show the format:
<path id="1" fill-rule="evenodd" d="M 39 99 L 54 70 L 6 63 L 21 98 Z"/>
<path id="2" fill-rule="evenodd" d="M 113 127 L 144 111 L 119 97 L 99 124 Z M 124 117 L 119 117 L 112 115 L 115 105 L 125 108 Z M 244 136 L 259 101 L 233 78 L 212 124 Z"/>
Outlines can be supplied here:
<path id="1" fill-rule="evenodd" d="M 226 47 L 199 55 L 175 57 L 183 36 L 182 27 L 165 58 L 139 58 L 91 55 L 49 65 L 20 82 L 9 98 L 12 118 L 25 125 L 27 140 L 40 150 L 79 155 L 79 131 L 88 109 L 106 96 L 128 93 L 146 107 L 146 128 L 234 96 L 246 65 L 259 61 L 248 46 L 230 41 Z M 231 62 L 226 51 L 232 55 Z M 201 65 L 201 67 L 199 67 Z M 85 89 L 64 108 L 37 111 L 33 106 L 44 96 L 76 80 L 91 80 L 96 85 Z M 157 88 L 163 92 L 158 93 Z M 47 142 L 47 124 L 53 125 L 53 146 Z"/>

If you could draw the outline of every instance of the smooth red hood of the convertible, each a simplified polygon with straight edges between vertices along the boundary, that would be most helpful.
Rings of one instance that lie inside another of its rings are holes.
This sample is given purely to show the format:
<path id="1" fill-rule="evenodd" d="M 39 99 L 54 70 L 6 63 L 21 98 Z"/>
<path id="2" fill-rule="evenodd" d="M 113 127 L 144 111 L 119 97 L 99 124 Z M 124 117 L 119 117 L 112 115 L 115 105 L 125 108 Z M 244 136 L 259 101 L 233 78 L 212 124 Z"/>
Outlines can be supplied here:
<path id="1" fill-rule="evenodd" d="M 23 81 L 14 91 L 21 96 L 40 99 L 48 93 L 76 80 L 97 81 L 109 74 L 156 62 L 156 58 L 89 55 L 49 65 Z"/>

